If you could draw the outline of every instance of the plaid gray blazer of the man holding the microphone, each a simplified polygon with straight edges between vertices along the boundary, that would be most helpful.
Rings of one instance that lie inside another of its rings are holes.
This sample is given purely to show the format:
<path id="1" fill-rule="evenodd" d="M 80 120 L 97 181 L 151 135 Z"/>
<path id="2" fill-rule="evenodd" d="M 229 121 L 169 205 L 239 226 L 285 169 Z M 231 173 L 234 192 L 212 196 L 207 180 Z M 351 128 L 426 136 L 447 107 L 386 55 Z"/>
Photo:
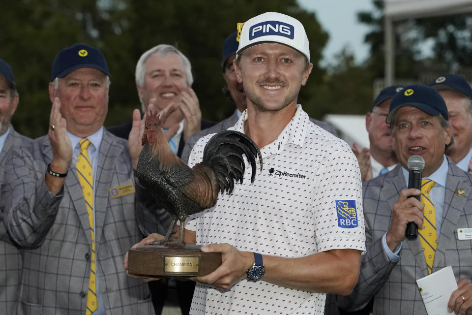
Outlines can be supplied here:
<path id="1" fill-rule="evenodd" d="M 390 261 L 382 249 L 382 236 L 390 224 L 392 207 L 405 189 L 401 166 L 363 183 L 367 252 L 353 293 L 336 296 L 338 305 L 355 310 L 374 299 L 374 315 L 426 315 L 416 279 L 428 275 L 419 238 L 403 241 L 400 259 Z M 457 193 L 464 189 L 465 193 Z M 457 238 L 458 228 L 472 227 L 472 175 L 449 161 L 444 209 L 433 272 L 452 266 L 456 281 L 472 279 L 472 241 Z"/>

